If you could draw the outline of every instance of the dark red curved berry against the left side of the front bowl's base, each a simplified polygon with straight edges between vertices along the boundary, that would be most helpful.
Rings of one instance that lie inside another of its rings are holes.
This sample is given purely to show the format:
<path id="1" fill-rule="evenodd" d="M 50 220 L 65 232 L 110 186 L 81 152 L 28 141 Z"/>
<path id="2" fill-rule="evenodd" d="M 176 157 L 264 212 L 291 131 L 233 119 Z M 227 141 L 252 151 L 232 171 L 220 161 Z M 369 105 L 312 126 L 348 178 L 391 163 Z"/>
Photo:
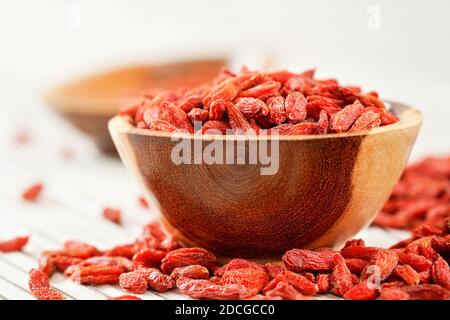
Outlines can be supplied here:
<path id="1" fill-rule="evenodd" d="M 171 274 L 173 269 L 198 264 L 211 267 L 216 262 L 216 256 L 203 248 L 181 248 L 169 252 L 162 260 L 161 270 Z"/>

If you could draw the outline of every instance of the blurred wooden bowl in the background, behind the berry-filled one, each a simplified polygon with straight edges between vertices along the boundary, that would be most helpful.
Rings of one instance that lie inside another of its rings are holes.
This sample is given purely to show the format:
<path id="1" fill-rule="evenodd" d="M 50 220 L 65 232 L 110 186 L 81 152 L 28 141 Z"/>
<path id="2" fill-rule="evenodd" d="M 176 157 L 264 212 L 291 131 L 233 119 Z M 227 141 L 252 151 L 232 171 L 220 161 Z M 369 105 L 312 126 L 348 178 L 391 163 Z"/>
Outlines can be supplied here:
<path id="1" fill-rule="evenodd" d="M 108 120 L 121 107 L 139 102 L 145 90 L 200 85 L 213 79 L 225 63 L 225 59 L 192 60 L 112 70 L 52 89 L 46 100 L 72 125 L 92 137 L 100 150 L 114 153 Z"/>

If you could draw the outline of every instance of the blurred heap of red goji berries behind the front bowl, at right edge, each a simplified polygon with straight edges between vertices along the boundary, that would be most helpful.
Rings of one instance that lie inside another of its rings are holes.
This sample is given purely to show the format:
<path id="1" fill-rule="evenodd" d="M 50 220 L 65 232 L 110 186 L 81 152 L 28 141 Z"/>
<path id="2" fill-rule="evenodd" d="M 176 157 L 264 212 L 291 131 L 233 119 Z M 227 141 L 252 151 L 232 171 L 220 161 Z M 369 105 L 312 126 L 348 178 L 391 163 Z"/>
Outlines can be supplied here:
<path id="1" fill-rule="evenodd" d="M 421 223 L 442 228 L 450 214 L 450 157 L 408 166 L 374 224 L 413 229 Z"/>

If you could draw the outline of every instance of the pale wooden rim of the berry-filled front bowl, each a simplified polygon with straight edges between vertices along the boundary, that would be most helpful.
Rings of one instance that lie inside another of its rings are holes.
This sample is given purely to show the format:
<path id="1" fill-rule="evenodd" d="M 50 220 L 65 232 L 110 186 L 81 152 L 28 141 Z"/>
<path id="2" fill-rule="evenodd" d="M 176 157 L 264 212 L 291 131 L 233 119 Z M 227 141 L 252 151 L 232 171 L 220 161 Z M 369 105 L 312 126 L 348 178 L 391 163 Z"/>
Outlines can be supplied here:
<path id="1" fill-rule="evenodd" d="M 203 134 L 187 134 L 183 132 L 165 132 L 165 131 L 155 131 L 149 129 L 136 128 L 131 123 L 130 116 L 116 115 L 108 121 L 108 128 L 110 132 L 128 133 L 138 136 L 148 136 L 155 138 L 168 138 L 168 139 L 191 139 L 191 140 L 202 140 L 202 141 L 213 141 L 213 140 L 233 140 L 233 141 L 261 141 L 261 140 L 278 140 L 278 141 L 306 141 L 315 139 L 339 139 L 347 137 L 364 137 L 369 135 L 379 135 L 392 131 L 407 129 L 413 126 L 422 124 L 422 113 L 417 109 L 409 105 L 388 101 L 391 105 L 391 110 L 396 111 L 396 116 L 398 116 L 399 121 L 381 127 L 376 127 L 367 131 L 361 131 L 356 133 L 327 133 L 321 135 L 203 135 Z M 397 113 L 398 112 L 398 113 Z"/>

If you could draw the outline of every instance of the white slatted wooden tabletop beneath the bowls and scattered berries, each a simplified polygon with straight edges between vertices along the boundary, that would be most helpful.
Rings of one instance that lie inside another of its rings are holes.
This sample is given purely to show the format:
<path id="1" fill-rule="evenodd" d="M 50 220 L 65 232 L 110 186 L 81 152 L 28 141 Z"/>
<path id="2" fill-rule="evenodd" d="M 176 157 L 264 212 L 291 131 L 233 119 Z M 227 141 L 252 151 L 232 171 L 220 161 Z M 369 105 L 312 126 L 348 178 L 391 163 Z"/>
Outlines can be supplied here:
<path id="1" fill-rule="evenodd" d="M 100 154 L 87 137 L 35 98 L 30 98 L 29 105 L 12 99 L 5 103 L 9 108 L 0 110 L 0 238 L 27 234 L 31 238 L 23 252 L 0 253 L 0 299 L 33 299 L 27 272 L 37 266 L 41 251 L 59 248 L 70 239 L 100 249 L 131 242 L 154 216 L 139 205 L 140 193 L 119 159 Z M 18 126 L 27 128 L 32 136 L 29 143 L 15 143 Z M 74 157 L 65 159 L 64 150 L 71 150 Z M 25 203 L 21 193 L 36 181 L 45 185 L 42 198 Z M 104 206 L 122 209 L 123 226 L 102 217 Z M 406 236 L 406 232 L 379 228 L 358 235 L 369 245 L 379 246 L 389 246 Z M 80 286 L 59 274 L 52 277 L 52 284 L 68 299 L 107 299 L 123 294 L 115 286 Z M 185 299 L 176 291 L 149 291 L 140 297 Z"/>

